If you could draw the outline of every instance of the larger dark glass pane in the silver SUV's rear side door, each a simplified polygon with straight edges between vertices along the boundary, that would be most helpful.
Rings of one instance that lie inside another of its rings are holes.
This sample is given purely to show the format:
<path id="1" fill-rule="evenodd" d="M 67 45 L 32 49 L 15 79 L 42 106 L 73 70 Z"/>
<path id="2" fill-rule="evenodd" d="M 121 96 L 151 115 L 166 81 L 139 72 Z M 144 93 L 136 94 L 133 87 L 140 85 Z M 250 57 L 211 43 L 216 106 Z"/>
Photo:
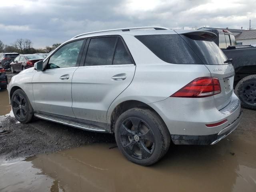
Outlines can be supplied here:
<path id="1" fill-rule="evenodd" d="M 92 38 L 85 59 L 85 66 L 112 65 L 117 37 Z"/>

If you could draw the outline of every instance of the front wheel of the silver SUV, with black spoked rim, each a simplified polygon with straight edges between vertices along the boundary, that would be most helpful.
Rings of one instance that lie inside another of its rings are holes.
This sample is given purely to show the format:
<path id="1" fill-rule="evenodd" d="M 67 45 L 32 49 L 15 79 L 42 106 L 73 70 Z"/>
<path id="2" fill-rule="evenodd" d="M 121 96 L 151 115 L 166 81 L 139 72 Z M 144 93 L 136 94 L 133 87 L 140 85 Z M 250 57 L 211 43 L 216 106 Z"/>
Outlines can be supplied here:
<path id="1" fill-rule="evenodd" d="M 15 118 L 21 123 L 29 123 L 34 116 L 34 110 L 25 92 L 21 89 L 14 91 L 11 101 Z"/>

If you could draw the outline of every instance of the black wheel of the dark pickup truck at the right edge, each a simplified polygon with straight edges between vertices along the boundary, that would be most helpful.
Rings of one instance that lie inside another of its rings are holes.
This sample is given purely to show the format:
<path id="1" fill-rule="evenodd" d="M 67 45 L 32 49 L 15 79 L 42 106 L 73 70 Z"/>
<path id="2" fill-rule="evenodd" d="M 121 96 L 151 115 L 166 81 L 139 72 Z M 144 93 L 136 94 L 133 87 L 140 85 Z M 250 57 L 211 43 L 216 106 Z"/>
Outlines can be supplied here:
<path id="1" fill-rule="evenodd" d="M 256 75 L 242 78 L 235 88 L 243 108 L 256 110 Z"/>

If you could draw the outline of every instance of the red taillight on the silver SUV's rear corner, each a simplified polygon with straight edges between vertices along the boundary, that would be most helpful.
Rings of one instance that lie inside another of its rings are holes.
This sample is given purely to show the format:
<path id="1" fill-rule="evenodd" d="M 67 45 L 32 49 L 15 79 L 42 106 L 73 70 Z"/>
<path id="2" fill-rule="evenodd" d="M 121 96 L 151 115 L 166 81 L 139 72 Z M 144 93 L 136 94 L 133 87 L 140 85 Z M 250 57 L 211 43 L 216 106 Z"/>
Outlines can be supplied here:
<path id="1" fill-rule="evenodd" d="M 209 97 L 221 92 L 220 82 L 216 77 L 196 78 L 171 97 L 200 98 Z"/>

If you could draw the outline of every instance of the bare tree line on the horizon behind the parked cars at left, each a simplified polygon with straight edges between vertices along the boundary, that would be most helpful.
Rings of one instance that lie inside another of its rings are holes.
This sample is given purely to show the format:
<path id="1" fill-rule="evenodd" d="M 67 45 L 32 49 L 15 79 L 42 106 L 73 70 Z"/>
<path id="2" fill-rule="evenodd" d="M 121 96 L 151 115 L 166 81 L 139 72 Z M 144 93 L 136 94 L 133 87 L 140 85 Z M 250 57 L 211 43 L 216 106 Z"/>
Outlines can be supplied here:
<path id="1" fill-rule="evenodd" d="M 17 39 L 10 45 L 6 45 L 0 40 L 0 52 L 17 52 L 19 54 L 49 53 L 60 46 L 60 43 L 56 43 L 52 46 L 36 49 L 32 47 L 32 44 L 31 40 L 22 38 Z"/>

